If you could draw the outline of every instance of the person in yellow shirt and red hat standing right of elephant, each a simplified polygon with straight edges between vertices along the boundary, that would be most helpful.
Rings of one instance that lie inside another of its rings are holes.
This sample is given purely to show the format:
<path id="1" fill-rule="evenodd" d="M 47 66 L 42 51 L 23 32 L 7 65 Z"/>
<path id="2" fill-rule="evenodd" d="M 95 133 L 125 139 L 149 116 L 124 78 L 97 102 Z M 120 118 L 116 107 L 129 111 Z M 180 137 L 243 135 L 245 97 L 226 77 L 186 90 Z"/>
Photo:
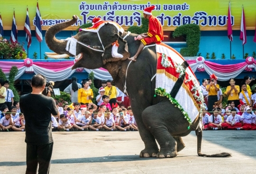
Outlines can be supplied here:
<path id="1" fill-rule="evenodd" d="M 210 75 L 210 84 L 206 86 L 206 91 L 209 92 L 208 106 L 207 106 L 209 112 L 212 111 L 214 103 L 218 101 L 217 93 L 219 91 L 219 84 L 216 84 L 216 83 L 217 83 L 216 75 L 214 74 Z"/>

